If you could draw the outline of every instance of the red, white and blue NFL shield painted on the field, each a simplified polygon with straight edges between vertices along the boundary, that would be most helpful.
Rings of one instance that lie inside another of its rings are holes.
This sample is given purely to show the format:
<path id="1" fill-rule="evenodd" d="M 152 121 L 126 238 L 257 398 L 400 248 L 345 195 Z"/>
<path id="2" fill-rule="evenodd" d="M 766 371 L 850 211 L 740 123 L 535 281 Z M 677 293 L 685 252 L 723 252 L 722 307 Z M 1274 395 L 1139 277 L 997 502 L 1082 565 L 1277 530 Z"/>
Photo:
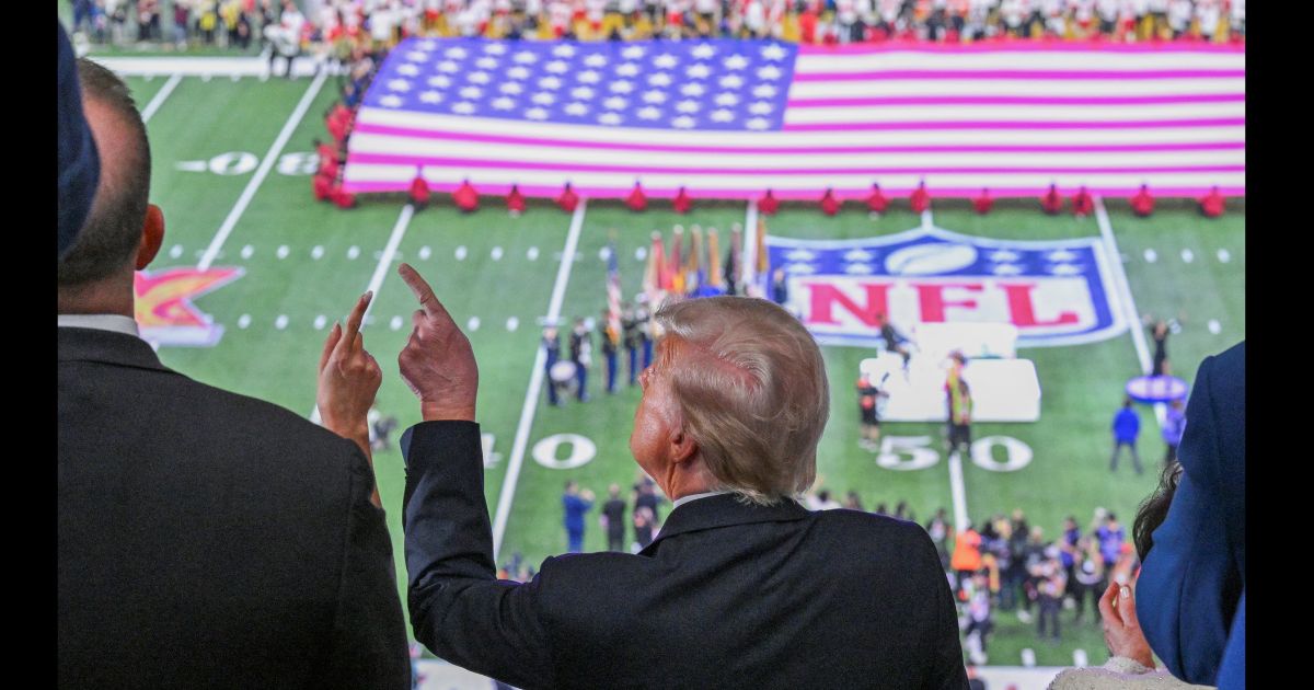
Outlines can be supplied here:
<path id="1" fill-rule="evenodd" d="M 1012 323 L 1018 347 L 1099 342 L 1127 329 L 1095 237 L 1003 241 L 922 226 L 854 241 L 767 237 L 767 256 L 824 344 L 874 347 L 880 314 L 896 326 Z"/>

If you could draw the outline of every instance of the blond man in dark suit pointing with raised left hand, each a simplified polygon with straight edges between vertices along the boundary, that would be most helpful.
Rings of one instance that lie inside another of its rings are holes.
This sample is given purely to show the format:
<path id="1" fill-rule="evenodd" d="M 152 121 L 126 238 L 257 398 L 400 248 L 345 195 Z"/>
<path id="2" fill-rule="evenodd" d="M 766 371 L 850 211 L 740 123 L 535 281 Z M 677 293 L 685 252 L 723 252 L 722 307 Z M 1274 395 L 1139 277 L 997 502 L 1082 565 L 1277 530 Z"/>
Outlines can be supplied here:
<path id="1" fill-rule="evenodd" d="M 495 577 L 469 340 L 424 280 L 398 357 L 415 639 L 526 687 L 966 689 L 940 557 L 917 524 L 796 501 L 828 417 L 821 352 L 765 300 L 665 306 L 631 451 L 675 506 L 639 555 Z"/>

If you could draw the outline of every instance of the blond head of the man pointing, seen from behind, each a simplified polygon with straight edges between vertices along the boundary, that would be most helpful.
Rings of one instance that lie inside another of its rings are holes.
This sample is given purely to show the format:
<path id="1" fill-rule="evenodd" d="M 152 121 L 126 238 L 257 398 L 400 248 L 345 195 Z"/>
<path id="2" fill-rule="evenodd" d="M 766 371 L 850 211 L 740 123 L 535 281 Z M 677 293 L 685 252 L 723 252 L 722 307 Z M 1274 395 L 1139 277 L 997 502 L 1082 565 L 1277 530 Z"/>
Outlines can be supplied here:
<path id="1" fill-rule="evenodd" d="M 765 300 L 664 306 L 629 448 L 671 498 L 728 489 L 759 503 L 816 478 L 829 385 L 816 340 Z M 674 493 L 673 493 L 674 492 Z"/>

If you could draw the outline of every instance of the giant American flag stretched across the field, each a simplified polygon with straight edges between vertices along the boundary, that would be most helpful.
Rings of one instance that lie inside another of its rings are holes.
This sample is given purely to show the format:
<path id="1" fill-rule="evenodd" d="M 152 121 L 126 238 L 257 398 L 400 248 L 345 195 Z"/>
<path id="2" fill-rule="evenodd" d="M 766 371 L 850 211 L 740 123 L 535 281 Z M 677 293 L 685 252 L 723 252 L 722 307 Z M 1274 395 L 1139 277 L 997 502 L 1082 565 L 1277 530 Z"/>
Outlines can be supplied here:
<path id="1" fill-rule="evenodd" d="M 351 135 L 353 192 L 781 198 L 1246 191 L 1233 46 L 800 47 L 411 38 Z"/>

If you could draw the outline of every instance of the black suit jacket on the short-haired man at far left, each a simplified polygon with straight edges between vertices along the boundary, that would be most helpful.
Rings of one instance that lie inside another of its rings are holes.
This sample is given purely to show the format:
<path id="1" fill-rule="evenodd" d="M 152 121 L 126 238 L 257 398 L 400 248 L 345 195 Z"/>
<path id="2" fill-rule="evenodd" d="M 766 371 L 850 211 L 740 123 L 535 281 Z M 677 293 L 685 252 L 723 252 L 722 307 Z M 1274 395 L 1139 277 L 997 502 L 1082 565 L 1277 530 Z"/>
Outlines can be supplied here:
<path id="1" fill-rule="evenodd" d="M 356 444 L 70 327 L 58 434 L 60 686 L 410 686 Z"/>

